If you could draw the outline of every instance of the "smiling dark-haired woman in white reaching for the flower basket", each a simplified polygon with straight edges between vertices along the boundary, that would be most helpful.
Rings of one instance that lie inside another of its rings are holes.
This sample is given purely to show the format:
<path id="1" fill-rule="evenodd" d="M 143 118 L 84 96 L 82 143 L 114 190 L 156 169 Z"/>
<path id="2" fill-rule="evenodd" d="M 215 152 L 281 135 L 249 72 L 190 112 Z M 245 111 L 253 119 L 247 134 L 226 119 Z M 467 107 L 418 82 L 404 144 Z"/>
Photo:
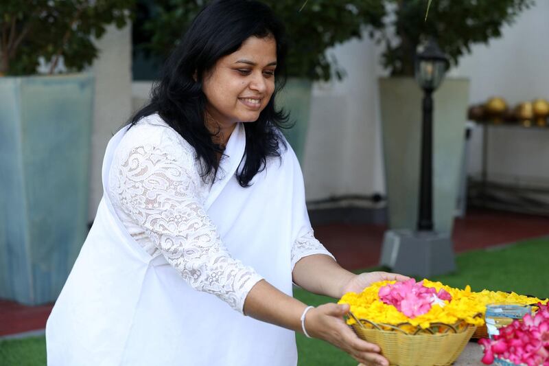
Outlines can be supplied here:
<path id="1" fill-rule="evenodd" d="M 314 238 L 274 108 L 284 57 L 264 4 L 198 14 L 107 147 L 104 197 L 47 323 L 49 365 L 296 365 L 294 332 L 388 365 L 344 324 L 348 306 L 292 297 L 292 282 L 340 297 L 405 277 L 354 275 Z"/>

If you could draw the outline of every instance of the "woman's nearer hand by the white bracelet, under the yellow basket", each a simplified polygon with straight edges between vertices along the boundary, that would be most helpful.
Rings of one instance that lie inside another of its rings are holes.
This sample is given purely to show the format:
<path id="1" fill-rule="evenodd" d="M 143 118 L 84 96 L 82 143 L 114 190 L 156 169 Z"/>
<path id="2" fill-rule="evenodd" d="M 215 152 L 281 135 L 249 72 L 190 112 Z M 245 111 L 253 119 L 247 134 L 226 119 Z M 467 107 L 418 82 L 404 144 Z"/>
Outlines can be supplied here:
<path id="1" fill-rule="evenodd" d="M 305 330 L 309 336 L 335 345 L 364 365 L 388 366 L 386 358 L 379 354 L 379 346 L 358 338 L 345 323 L 343 317 L 348 312 L 348 304 L 320 305 L 307 312 Z"/>

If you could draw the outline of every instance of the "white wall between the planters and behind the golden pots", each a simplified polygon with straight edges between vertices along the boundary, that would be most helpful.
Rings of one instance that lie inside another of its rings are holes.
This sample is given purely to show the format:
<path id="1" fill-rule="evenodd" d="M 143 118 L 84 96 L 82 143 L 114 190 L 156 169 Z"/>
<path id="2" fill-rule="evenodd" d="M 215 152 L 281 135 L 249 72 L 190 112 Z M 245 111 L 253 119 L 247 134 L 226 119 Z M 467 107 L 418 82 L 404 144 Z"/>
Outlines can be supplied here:
<path id="1" fill-rule="evenodd" d="M 476 45 L 449 76 L 471 79 L 470 102 L 502 95 L 510 104 L 549 100 L 549 1 L 538 0 L 502 38 Z M 305 150 L 307 199 L 385 192 L 377 78 L 381 49 L 365 38 L 331 50 L 347 70 L 342 82 L 316 85 Z M 474 130 L 469 172 L 480 171 L 482 131 Z M 547 181 L 549 128 L 498 128 L 490 134 L 489 172 L 507 181 Z"/>

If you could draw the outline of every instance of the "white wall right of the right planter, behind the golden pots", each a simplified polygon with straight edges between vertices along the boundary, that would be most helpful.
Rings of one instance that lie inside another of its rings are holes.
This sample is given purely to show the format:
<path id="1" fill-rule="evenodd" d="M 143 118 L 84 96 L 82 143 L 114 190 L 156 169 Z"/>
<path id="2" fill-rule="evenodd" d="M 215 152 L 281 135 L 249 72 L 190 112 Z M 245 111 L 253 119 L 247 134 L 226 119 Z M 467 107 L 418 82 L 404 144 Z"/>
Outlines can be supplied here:
<path id="1" fill-rule="evenodd" d="M 452 71 L 471 78 L 471 103 L 495 95 L 511 106 L 536 98 L 549 100 L 549 1 L 537 0 L 502 38 L 476 45 Z M 491 128 L 488 172 L 491 179 L 549 186 L 549 129 Z M 469 173 L 480 174 L 482 128 L 476 128 L 469 151 Z"/>

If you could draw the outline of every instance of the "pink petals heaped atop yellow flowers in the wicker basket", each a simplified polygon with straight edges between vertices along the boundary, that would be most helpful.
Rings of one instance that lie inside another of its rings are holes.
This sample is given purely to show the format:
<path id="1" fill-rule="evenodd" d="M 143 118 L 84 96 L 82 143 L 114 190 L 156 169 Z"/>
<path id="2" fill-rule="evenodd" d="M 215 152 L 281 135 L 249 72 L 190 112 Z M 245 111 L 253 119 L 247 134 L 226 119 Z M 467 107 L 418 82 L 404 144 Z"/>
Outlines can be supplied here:
<path id="1" fill-rule="evenodd" d="M 423 286 L 423 281 L 416 282 L 410 278 L 408 281 L 387 284 L 379 288 L 379 299 L 387 305 L 393 305 L 406 317 L 414 318 L 431 310 L 436 299 L 452 300 L 446 290 L 441 288 L 436 292 L 435 288 Z"/>

